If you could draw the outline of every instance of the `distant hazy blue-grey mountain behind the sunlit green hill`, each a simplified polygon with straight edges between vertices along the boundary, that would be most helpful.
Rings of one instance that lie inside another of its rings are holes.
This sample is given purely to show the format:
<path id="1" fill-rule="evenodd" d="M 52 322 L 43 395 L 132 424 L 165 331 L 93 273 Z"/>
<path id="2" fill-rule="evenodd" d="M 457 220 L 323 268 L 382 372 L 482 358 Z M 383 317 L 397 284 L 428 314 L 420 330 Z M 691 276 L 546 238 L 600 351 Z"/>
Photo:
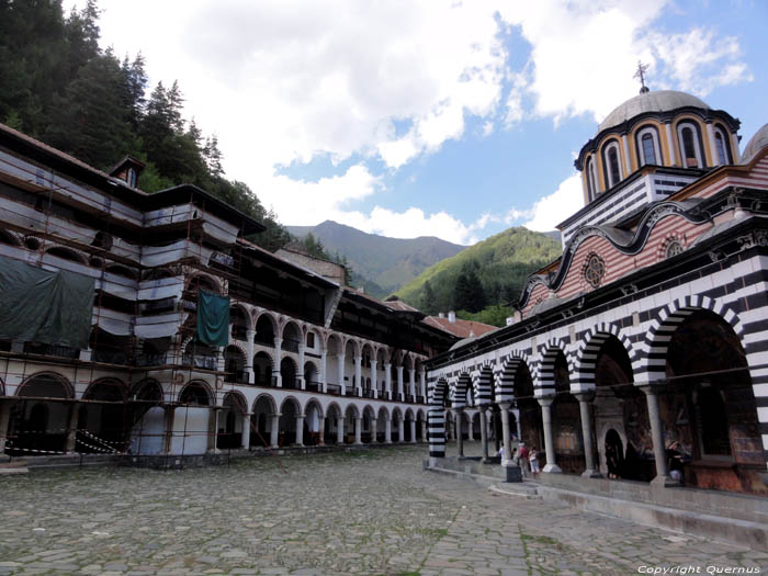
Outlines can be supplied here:
<path id="1" fill-rule="evenodd" d="M 433 236 L 402 239 L 366 234 L 332 221 L 286 228 L 297 237 L 312 233 L 326 251 L 346 256 L 352 270 L 369 281 L 363 282 L 366 292 L 379 297 L 395 292 L 425 269 L 466 248 Z"/>

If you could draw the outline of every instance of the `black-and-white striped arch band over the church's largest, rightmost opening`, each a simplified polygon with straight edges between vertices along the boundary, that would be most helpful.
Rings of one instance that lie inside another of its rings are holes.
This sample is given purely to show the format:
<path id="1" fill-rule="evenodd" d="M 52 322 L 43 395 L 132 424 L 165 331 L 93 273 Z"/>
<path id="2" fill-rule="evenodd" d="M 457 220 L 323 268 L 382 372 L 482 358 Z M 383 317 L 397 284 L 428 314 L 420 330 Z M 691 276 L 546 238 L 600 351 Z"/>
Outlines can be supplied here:
<path id="1" fill-rule="evenodd" d="M 686 296 L 667 304 L 651 323 L 645 339 L 645 354 L 636 354 L 632 361 L 635 382 L 652 383 L 664 379 L 667 365 L 667 350 L 673 334 L 682 321 L 697 310 L 709 310 L 729 323 L 733 331 L 744 341 L 744 325 L 730 307 L 707 297 Z M 640 358 L 639 358 L 640 357 Z"/>

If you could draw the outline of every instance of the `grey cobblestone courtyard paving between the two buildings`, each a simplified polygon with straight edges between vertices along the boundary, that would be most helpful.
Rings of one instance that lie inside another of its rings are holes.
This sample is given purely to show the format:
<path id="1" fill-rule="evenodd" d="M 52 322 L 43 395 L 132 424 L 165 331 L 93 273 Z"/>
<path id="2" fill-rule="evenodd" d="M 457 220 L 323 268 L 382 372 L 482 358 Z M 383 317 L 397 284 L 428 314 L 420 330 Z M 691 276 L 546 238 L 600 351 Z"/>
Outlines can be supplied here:
<path id="1" fill-rule="evenodd" d="M 286 458 L 287 474 L 251 459 L 3 477 L 0 574 L 768 569 L 768 554 L 422 472 L 425 455 L 413 447 Z"/>

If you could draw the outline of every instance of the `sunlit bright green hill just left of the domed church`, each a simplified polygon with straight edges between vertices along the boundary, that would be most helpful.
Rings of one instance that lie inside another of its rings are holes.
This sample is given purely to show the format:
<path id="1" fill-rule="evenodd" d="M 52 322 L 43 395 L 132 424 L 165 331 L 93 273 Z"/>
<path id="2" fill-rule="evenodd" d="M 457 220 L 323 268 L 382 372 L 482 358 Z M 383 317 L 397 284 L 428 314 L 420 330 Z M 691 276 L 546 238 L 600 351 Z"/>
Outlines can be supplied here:
<path id="1" fill-rule="evenodd" d="M 454 287 L 460 276 L 468 273 L 475 274 L 483 286 L 484 305 L 507 306 L 517 302 L 530 273 L 560 255 L 561 244 L 549 235 L 509 228 L 428 268 L 399 289 L 397 295 L 431 314 L 456 309 Z M 426 294 L 426 282 L 431 296 Z"/>

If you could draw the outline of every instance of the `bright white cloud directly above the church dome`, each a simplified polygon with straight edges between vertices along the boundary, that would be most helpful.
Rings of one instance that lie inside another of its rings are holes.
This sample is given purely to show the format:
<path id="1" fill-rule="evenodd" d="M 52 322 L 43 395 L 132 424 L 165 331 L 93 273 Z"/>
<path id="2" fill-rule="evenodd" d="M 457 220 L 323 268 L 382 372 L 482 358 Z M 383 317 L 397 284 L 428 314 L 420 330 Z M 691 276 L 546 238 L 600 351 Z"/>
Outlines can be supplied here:
<path id="1" fill-rule="evenodd" d="M 738 61 L 738 42 L 712 30 L 657 32 L 669 0 L 541 0 L 501 8 L 501 18 L 519 26 L 531 43 L 524 90 L 533 112 L 555 122 L 591 114 L 600 122 L 635 95 L 637 60 L 651 64 L 652 88 L 674 87 L 705 95 L 718 86 L 752 77 Z M 522 117 L 521 88 L 507 100 L 507 124 Z"/>

